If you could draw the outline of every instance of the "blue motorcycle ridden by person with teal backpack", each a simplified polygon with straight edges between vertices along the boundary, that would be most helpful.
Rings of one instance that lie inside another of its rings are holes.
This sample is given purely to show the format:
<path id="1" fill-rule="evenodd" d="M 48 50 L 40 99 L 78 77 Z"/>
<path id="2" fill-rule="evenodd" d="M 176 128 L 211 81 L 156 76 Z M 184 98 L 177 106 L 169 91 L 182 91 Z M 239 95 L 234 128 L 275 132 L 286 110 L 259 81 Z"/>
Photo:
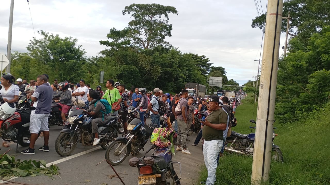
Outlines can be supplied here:
<path id="1" fill-rule="evenodd" d="M 70 155 L 76 148 L 78 142 L 84 146 L 92 145 L 94 135 L 92 134 L 92 116 L 83 113 L 84 109 L 73 106 L 69 111 L 68 122 L 63 126 L 62 131 L 55 141 L 56 153 L 60 156 Z M 109 121 L 99 126 L 98 133 L 101 139 L 99 145 L 106 150 L 109 143 L 118 137 L 120 131 L 119 116 L 110 116 Z"/>

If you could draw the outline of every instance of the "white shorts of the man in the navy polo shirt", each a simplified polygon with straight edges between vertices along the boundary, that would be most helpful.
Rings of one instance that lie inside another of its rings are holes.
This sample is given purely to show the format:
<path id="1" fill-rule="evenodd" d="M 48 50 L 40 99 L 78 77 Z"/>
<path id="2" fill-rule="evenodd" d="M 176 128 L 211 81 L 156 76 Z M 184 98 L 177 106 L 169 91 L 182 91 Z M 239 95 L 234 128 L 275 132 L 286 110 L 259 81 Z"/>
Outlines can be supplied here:
<path id="1" fill-rule="evenodd" d="M 35 114 L 31 113 L 30 116 L 30 133 L 38 134 L 40 130 L 49 131 L 48 128 L 49 114 Z"/>

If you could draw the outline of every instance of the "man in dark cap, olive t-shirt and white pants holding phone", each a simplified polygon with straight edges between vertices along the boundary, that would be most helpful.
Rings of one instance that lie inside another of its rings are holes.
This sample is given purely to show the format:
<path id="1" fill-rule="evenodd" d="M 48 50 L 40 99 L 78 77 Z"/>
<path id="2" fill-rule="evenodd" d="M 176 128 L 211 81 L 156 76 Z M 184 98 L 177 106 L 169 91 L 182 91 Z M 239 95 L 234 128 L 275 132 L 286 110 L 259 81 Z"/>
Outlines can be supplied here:
<path id="1" fill-rule="evenodd" d="M 209 97 L 209 109 L 212 111 L 205 119 L 201 121 L 203 126 L 203 154 L 208 177 L 206 182 L 201 184 L 213 185 L 215 182 L 215 171 L 217 167 L 216 158 L 223 145 L 223 131 L 226 130 L 228 116 L 222 109 L 222 101 L 217 95 Z"/>

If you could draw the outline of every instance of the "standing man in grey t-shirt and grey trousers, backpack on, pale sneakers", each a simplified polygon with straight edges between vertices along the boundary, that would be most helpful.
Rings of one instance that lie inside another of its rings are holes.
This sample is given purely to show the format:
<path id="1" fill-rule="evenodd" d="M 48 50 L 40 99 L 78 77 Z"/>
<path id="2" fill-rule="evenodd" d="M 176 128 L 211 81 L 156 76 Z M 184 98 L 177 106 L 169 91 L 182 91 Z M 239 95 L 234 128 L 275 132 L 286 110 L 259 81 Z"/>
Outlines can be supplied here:
<path id="1" fill-rule="evenodd" d="M 182 132 L 182 135 L 178 135 L 178 147 L 176 150 L 181 150 L 182 153 L 191 155 L 189 150 L 187 149 L 187 110 L 188 110 L 188 102 L 186 98 L 188 97 L 188 91 L 182 90 L 182 98 L 179 100 L 179 105 L 181 108 L 181 115 L 178 115 L 178 132 Z M 176 107 L 177 108 L 177 107 Z M 182 147 L 181 147 L 182 146 Z"/>

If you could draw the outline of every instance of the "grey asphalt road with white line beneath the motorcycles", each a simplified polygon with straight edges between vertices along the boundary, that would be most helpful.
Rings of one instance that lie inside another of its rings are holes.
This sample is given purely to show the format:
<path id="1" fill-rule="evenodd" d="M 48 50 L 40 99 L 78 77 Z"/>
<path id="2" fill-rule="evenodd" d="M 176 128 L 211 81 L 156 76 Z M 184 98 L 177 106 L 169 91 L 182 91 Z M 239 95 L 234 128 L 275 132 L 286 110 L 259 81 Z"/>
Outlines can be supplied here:
<path id="1" fill-rule="evenodd" d="M 150 119 L 147 119 L 147 123 L 150 123 Z M 60 126 L 52 126 L 50 128 L 50 138 L 49 138 L 49 152 L 44 152 L 40 150 L 36 150 L 36 154 L 27 155 L 21 153 L 15 153 L 15 147 L 11 143 L 11 150 L 9 152 L 10 155 L 15 155 L 16 158 L 19 159 L 38 159 L 38 160 L 46 160 L 47 163 L 56 163 L 60 169 L 60 175 L 54 176 L 55 180 L 51 180 L 47 176 L 36 176 L 36 177 L 19 177 L 14 179 L 16 182 L 23 182 L 29 184 L 41 184 L 41 185 L 106 185 L 106 184 L 118 184 L 121 182 L 118 178 L 111 178 L 109 175 L 115 175 L 115 172 L 111 169 L 111 167 L 103 162 L 97 166 L 99 162 L 105 159 L 105 150 L 103 150 L 100 146 L 82 146 L 82 144 L 78 144 L 75 151 L 71 156 L 61 157 L 59 156 L 54 148 L 54 142 L 56 137 L 58 136 L 59 131 L 61 130 Z M 202 145 L 199 144 L 197 146 L 192 146 L 195 137 L 197 134 L 193 134 L 189 136 L 191 140 L 188 142 L 188 149 L 192 153 L 192 155 L 182 154 L 181 152 L 177 152 L 173 157 L 173 161 L 181 162 L 182 164 L 182 180 L 181 184 L 190 185 L 196 184 L 198 180 L 198 172 L 200 171 L 200 165 L 204 165 Z M 36 148 L 39 148 L 43 145 L 43 138 L 39 138 L 36 142 Z M 26 147 L 18 146 L 19 150 L 23 150 Z M 149 148 L 149 145 L 146 147 Z M 6 151 L 6 148 L 2 148 L 0 153 Z M 145 156 L 150 156 L 152 152 L 146 154 Z M 137 157 L 143 157 L 144 153 L 141 153 Z M 118 166 L 115 166 L 115 170 L 121 177 L 123 177 L 123 181 L 126 185 L 137 184 L 138 171 L 137 168 L 130 167 L 128 164 L 128 160 L 131 158 L 131 155 L 126 158 L 126 160 Z M 176 172 L 179 172 L 179 169 L 176 168 Z"/>

